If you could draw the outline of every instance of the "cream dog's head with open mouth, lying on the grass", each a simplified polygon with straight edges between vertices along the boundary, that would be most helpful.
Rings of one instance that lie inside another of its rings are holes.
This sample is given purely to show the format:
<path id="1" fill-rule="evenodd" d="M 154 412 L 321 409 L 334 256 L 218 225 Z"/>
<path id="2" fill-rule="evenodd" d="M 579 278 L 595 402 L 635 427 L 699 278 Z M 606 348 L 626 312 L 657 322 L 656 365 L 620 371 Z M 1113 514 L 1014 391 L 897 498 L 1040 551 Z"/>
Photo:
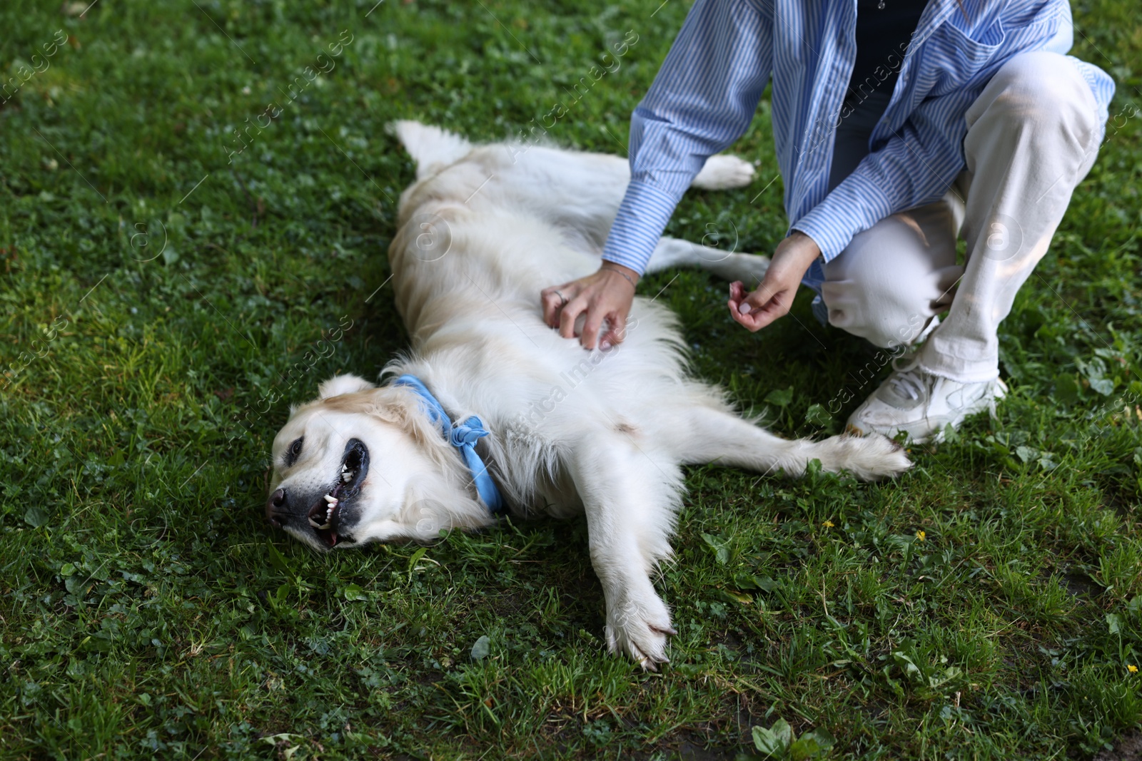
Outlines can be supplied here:
<path id="1" fill-rule="evenodd" d="M 473 502 L 448 448 L 408 389 L 331 378 L 274 438 L 266 517 L 319 550 L 435 539 Z"/>

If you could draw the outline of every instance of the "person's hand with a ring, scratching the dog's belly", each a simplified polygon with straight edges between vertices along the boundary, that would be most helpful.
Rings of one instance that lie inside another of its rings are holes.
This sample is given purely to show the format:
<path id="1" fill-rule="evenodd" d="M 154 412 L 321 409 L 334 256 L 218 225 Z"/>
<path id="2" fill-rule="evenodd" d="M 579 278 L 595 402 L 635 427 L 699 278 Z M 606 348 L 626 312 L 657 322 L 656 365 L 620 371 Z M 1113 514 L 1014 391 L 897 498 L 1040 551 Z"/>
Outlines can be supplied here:
<path id="1" fill-rule="evenodd" d="M 635 270 L 604 261 L 596 273 L 544 289 L 540 293 L 544 322 L 549 327 L 557 327 L 563 338 L 573 338 L 576 322 L 580 315 L 585 316 L 579 343 L 585 349 L 594 349 L 603 321 L 606 321 L 609 327 L 601 337 L 598 347 L 609 349 L 626 338 L 627 315 L 630 314 L 637 282 L 638 273 Z"/>

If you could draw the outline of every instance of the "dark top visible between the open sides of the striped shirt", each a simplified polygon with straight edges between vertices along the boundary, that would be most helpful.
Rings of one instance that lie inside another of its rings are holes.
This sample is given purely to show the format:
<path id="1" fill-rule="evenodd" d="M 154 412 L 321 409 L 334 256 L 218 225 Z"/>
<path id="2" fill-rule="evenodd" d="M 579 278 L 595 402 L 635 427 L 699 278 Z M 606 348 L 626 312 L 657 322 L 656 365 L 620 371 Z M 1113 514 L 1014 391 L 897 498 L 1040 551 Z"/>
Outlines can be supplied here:
<path id="1" fill-rule="evenodd" d="M 896 86 L 904 51 L 926 0 L 856 0 L 856 62 L 845 92 L 844 120 L 833 143 L 829 191 L 868 155 L 868 139 Z M 879 70 L 879 71 L 878 71 Z"/>

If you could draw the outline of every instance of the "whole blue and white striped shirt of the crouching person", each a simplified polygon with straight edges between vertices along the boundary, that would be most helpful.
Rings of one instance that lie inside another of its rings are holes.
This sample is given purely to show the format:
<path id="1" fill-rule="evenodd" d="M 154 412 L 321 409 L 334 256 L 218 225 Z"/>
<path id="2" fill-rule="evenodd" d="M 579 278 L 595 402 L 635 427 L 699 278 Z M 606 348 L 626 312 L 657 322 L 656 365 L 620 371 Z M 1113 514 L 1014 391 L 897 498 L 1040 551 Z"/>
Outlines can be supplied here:
<path id="1" fill-rule="evenodd" d="M 603 258 L 645 269 L 691 180 L 746 131 L 772 80 L 789 229 L 829 261 L 880 219 L 940 199 L 965 167 L 964 114 L 991 75 L 1019 52 L 1065 54 L 1073 34 L 1067 0 L 931 0 L 907 49 L 884 62 L 899 79 L 869 155 L 829 192 L 834 132 L 852 106 L 855 26 L 855 0 L 697 0 L 632 115 L 632 179 Z M 1070 59 L 1105 123 L 1113 81 Z M 821 278 L 818 260 L 805 282 Z"/>

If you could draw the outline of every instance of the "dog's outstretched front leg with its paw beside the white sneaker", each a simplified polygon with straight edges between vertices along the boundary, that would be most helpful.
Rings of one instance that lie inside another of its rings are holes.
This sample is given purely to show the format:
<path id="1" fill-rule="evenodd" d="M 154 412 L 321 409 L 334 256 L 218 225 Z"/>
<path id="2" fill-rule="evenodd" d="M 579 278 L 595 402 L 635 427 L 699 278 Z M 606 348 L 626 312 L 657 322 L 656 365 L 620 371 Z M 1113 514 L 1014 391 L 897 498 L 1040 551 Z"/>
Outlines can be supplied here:
<path id="1" fill-rule="evenodd" d="M 825 470 L 847 470 L 862 480 L 899 476 L 911 467 L 903 450 L 883 436 L 785 439 L 711 407 L 691 407 L 686 424 L 677 430 L 676 452 L 686 464 L 717 463 L 801 476 L 810 460 L 819 460 Z"/>

